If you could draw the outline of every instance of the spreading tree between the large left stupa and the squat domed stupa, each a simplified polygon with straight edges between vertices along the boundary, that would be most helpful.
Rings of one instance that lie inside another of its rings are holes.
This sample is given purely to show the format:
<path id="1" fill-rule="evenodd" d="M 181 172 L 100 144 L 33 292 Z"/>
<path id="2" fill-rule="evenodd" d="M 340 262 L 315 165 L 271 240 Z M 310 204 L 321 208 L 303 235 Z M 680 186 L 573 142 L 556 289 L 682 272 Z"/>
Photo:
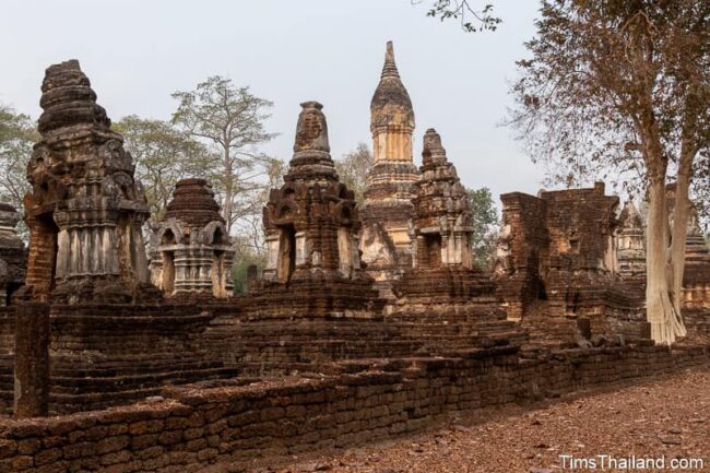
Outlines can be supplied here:
<path id="1" fill-rule="evenodd" d="M 126 150 L 133 156 L 135 177 L 145 186 L 152 223 L 163 217 L 178 180 L 208 176 L 218 162 L 208 146 L 169 121 L 131 115 L 113 128 L 123 135 Z"/>

